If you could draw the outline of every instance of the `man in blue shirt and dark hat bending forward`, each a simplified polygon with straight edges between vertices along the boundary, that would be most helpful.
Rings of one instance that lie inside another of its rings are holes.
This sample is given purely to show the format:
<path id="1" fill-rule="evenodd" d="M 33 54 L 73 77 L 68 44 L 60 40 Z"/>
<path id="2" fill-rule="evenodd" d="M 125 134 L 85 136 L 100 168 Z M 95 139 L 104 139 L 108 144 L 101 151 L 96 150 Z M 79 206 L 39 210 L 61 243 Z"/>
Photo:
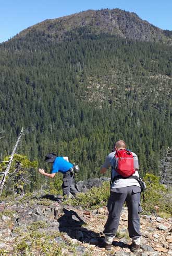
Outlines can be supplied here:
<path id="1" fill-rule="evenodd" d="M 75 173 L 71 172 L 73 164 L 69 162 L 68 157 L 57 157 L 54 153 L 49 153 L 45 156 L 45 162 L 53 163 L 51 173 L 46 173 L 43 169 L 39 169 L 39 172 L 44 176 L 54 178 L 57 172 L 63 173 L 63 196 L 68 197 L 69 193 L 76 195 L 78 190 L 72 184 Z"/>

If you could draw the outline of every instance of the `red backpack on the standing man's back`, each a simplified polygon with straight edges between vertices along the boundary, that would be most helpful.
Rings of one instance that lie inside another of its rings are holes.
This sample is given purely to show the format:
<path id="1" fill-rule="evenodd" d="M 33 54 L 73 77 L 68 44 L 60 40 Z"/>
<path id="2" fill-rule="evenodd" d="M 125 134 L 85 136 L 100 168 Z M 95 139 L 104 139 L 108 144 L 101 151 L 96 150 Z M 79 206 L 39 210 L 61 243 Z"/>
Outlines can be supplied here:
<path id="1" fill-rule="evenodd" d="M 126 149 L 117 150 L 115 153 L 115 171 L 123 177 L 131 176 L 134 170 L 134 160 L 132 152 Z"/>

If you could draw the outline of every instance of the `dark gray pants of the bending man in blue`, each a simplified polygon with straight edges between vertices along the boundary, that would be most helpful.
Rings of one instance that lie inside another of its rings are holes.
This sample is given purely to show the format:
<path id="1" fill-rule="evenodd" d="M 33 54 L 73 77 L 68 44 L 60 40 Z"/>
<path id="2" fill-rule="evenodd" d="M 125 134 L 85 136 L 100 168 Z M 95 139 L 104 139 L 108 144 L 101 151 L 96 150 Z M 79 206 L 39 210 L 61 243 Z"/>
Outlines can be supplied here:
<path id="1" fill-rule="evenodd" d="M 62 183 L 62 189 L 63 189 L 63 195 L 69 196 L 69 193 L 72 195 L 76 195 L 78 193 L 78 190 L 75 188 L 75 185 L 72 184 L 73 182 L 74 174 L 72 174 L 70 171 L 67 171 L 63 175 L 63 183 Z"/>

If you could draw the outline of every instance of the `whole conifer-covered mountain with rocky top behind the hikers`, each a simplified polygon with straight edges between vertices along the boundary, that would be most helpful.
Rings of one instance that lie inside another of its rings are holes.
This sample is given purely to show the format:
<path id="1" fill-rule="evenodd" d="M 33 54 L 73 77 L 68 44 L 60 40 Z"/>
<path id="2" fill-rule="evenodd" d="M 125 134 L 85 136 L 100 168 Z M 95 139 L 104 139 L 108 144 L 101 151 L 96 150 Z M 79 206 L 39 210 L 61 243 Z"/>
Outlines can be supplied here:
<path id="1" fill-rule="evenodd" d="M 157 174 L 172 141 L 171 35 L 104 9 L 45 20 L 0 44 L 1 159 L 23 126 L 18 152 L 45 168 L 44 155 L 57 152 L 80 165 L 78 179 L 98 176 L 124 139 L 142 174 Z"/>

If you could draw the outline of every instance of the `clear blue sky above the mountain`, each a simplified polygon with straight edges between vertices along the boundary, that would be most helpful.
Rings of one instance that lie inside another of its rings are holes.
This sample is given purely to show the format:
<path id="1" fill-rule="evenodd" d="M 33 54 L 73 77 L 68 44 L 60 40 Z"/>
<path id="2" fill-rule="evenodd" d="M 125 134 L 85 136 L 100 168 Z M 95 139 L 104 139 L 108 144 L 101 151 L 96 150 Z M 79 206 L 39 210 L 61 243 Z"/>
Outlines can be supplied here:
<path id="1" fill-rule="evenodd" d="M 101 8 L 134 12 L 159 28 L 172 30 L 172 0 L 1 0 L 0 3 L 0 42 L 45 19 Z"/>

